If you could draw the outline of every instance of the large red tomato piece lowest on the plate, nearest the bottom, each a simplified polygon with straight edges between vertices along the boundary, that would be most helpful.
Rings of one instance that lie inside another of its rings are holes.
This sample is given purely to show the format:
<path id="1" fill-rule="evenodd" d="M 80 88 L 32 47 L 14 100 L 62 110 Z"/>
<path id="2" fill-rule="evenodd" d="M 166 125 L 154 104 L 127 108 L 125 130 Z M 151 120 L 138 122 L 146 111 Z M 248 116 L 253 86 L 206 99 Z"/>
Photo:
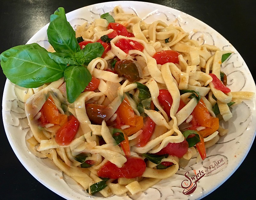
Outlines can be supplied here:
<path id="1" fill-rule="evenodd" d="M 118 179 L 127 178 L 132 179 L 142 176 L 146 170 L 146 163 L 141 158 L 130 157 L 122 167 L 117 167 L 111 162 L 107 162 L 98 171 L 98 176 L 102 178 Z"/>

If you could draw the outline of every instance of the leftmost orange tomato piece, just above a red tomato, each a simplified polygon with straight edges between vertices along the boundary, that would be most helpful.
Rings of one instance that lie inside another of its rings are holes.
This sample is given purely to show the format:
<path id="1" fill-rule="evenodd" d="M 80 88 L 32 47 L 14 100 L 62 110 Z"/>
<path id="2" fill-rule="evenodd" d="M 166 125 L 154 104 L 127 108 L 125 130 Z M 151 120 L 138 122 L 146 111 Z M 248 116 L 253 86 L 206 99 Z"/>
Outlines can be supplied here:
<path id="1" fill-rule="evenodd" d="M 44 105 L 42 106 L 41 116 L 38 119 L 41 126 L 45 126 L 46 124 L 57 124 L 63 125 L 68 121 L 68 116 L 59 113 L 58 108 L 54 104 L 54 101 L 51 96 L 48 97 Z"/>

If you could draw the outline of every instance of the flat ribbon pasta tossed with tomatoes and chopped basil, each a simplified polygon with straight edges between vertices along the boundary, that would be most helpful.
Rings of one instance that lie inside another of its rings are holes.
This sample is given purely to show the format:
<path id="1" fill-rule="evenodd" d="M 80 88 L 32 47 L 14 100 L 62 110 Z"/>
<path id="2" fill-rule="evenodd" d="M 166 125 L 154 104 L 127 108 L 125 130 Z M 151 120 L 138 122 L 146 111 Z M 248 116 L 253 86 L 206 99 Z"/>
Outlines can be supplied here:
<path id="1" fill-rule="evenodd" d="M 180 158 L 206 158 L 205 148 L 228 132 L 219 120 L 254 95 L 225 86 L 221 59 L 231 51 L 199 45 L 181 27 L 147 24 L 120 7 L 111 14 L 115 22 L 76 27 L 82 49 L 95 42 L 105 48 L 84 65 L 97 83 L 69 103 L 61 78 L 29 89 L 25 104 L 28 142 L 89 194 L 102 183 L 96 192 L 104 197 L 146 190 L 175 174 Z M 74 132 L 69 142 L 65 131 Z"/>

